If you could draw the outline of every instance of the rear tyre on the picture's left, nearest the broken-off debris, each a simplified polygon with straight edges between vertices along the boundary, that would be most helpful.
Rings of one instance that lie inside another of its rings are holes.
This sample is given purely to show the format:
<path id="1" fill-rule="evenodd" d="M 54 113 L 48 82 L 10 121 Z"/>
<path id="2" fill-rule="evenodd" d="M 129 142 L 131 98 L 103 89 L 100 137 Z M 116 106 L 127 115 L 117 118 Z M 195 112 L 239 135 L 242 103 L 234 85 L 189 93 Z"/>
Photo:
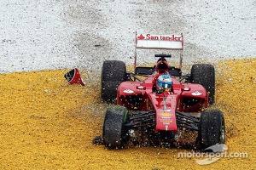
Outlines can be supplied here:
<path id="1" fill-rule="evenodd" d="M 106 60 L 102 65 L 101 98 L 103 101 L 113 103 L 117 97 L 117 88 L 125 82 L 126 66 L 123 61 Z"/>

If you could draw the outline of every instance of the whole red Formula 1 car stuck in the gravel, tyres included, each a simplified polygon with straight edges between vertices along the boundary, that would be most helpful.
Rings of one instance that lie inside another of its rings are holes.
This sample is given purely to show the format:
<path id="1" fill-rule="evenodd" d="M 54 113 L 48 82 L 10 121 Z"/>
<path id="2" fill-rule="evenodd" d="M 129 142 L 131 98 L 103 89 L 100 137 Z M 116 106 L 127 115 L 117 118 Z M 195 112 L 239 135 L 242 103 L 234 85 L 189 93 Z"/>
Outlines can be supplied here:
<path id="1" fill-rule="evenodd" d="M 137 66 L 137 48 L 180 51 L 180 68 L 170 66 L 171 54 L 155 54 L 153 67 Z M 104 119 L 102 143 L 122 148 L 137 144 L 189 143 L 207 148 L 225 141 L 224 115 L 208 109 L 214 103 L 215 72 L 209 64 L 195 64 L 182 75 L 183 35 L 136 36 L 135 71 L 125 63 L 106 60 L 102 65 L 102 100 L 110 105 Z M 141 76 L 145 77 L 141 80 Z M 183 132 L 195 140 L 183 139 Z"/>

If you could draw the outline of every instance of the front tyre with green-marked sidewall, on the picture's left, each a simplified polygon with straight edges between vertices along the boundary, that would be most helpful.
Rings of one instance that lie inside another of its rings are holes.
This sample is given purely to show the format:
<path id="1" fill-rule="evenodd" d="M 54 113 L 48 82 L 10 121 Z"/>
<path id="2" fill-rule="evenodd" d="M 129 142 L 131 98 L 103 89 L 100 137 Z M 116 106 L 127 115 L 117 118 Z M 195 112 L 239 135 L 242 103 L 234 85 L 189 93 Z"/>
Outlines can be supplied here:
<path id="1" fill-rule="evenodd" d="M 103 143 L 108 148 L 122 148 L 129 139 L 128 127 L 125 121 L 128 111 L 124 106 L 108 107 L 103 126 Z"/>

